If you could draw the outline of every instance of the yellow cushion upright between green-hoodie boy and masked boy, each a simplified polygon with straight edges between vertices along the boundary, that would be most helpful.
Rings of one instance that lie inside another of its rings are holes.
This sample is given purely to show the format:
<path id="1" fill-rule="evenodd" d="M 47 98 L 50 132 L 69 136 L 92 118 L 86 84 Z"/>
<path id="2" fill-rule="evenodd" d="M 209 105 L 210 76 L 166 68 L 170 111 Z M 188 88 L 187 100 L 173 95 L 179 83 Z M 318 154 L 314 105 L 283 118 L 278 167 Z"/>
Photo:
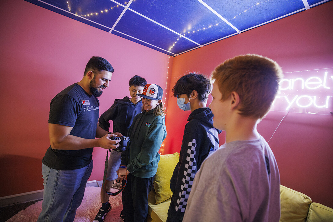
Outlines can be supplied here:
<path id="1" fill-rule="evenodd" d="M 165 154 L 161 155 L 159 166 L 154 179 L 154 189 L 156 192 L 156 204 L 159 204 L 172 196 L 170 190 L 170 179 L 174 167 L 179 161 L 179 154 Z"/>

